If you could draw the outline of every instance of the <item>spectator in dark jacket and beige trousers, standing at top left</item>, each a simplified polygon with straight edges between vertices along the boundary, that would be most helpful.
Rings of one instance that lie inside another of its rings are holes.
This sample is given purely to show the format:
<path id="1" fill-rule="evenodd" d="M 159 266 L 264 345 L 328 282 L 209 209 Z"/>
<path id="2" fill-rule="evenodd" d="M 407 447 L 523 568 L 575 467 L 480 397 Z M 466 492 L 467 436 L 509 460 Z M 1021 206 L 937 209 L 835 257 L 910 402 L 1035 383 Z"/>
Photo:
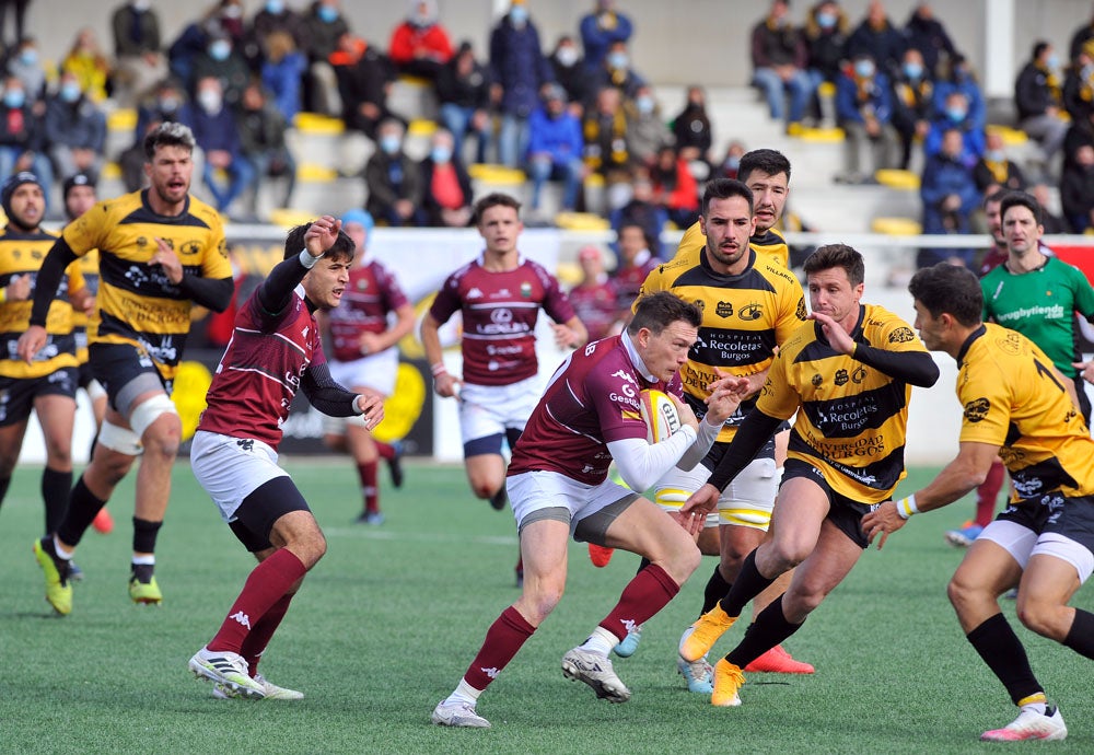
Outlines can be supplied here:
<path id="1" fill-rule="evenodd" d="M 113 97 L 119 107 L 131 107 L 167 76 L 161 50 L 160 16 L 150 0 L 128 0 L 110 19 L 114 31 Z"/>

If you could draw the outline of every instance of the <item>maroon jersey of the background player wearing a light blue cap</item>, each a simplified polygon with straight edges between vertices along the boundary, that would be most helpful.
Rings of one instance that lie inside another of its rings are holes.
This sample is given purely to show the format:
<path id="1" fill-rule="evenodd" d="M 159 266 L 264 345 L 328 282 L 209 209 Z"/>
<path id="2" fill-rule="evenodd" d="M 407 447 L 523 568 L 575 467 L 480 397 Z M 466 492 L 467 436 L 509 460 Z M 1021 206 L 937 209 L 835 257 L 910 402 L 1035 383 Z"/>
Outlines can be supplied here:
<path id="1" fill-rule="evenodd" d="M 339 362 L 361 358 L 362 333 L 383 333 L 387 314 L 407 303 L 395 276 L 376 260 L 354 267 L 341 303 L 330 311 L 331 357 Z"/>

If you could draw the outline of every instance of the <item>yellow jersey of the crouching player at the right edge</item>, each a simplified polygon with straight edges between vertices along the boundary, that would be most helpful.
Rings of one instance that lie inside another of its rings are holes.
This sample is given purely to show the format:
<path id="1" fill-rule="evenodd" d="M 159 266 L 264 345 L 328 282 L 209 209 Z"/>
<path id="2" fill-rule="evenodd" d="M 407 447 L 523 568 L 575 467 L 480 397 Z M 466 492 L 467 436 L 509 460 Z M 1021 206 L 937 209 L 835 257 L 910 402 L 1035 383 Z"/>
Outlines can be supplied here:
<path id="1" fill-rule="evenodd" d="M 1094 495 L 1094 440 L 1059 373 L 1032 340 L 991 323 L 957 356 L 961 440 L 1000 446 L 1012 500 Z"/>

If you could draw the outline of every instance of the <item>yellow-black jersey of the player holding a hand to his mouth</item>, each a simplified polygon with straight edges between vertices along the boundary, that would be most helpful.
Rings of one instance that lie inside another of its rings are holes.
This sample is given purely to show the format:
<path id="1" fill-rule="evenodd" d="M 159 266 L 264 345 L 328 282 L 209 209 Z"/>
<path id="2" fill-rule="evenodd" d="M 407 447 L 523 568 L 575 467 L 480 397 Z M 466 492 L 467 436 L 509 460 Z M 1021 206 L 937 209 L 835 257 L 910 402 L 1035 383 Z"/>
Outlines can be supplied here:
<path id="1" fill-rule="evenodd" d="M 875 304 L 861 305 L 851 338 L 927 351 L 906 322 Z M 876 503 L 905 476 L 910 397 L 909 384 L 836 351 L 818 323 L 806 323 L 782 344 L 756 404 L 779 419 L 796 411 L 788 455 L 815 466 L 836 492 Z"/>

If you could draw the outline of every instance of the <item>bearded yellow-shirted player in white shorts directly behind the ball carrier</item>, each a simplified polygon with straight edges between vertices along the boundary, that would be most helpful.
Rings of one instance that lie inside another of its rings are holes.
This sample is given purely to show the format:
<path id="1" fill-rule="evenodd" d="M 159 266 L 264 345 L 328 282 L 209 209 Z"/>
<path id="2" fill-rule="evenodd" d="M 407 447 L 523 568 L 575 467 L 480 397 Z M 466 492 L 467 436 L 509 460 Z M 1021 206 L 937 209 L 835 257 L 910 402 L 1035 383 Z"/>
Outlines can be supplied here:
<path id="1" fill-rule="evenodd" d="M 642 295 L 671 291 L 685 301 L 696 302 L 702 311 L 699 338 L 688 351 L 687 364 L 680 369 L 684 397 L 698 413 L 696 416 L 703 415 L 708 385 L 719 374 L 744 376 L 749 383 L 749 398 L 726 420 L 702 463 L 686 472 L 670 469 L 654 485 L 654 500 L 670 513 L 678 511 L 688 496 L 707 481 L 737 426 L 755 405 L 778 345 L 806 317 L 798 278 L 782 264 L 749 248 L 754 228 L 752 202 L 752 191 L 738 181 L 719 178 L 709 183 L 700 217 L 707 244 L 701 257 L 694 263 L 677 257 L 661 265 L 642 286 Z M 705 555 L 720 557 L 703 591 L 700 615 L 729 592 L 745 556 L 764 541 L 778 486 L 775 442 L 769 441 L 725 489 L 718 511 L 708 516 L 699 536 L 699 549 Z M 757 613 L 782 593 L 789 574 L 781 581 L 781 585 L 756 600 Z M 616 652 L 626 657 L 627 649 L 622 643 Z M 705 658 L 691 663 L 679 659 L 677 669 L 687 680 L 688 689 L 711 693 L 713 680 Z M 811 674 L 814 669 L 775 647 L 748 671 Z"/>

